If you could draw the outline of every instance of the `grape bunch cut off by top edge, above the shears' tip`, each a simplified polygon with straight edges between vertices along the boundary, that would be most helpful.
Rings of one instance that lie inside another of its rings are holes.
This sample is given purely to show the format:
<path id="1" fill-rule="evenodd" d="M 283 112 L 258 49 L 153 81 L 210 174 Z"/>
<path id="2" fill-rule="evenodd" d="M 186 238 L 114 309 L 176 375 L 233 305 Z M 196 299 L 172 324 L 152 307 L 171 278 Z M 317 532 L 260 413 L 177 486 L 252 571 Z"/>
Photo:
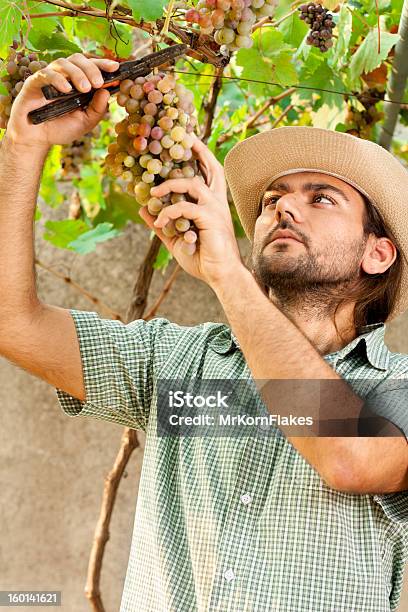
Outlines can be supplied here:
<path id="1" fill-rule="evenodd" d="M 279 0 L 199 0 L 188 9 L 186 21 L 197 23 L 203 34 L 212 34 L 218 45 L 229 52 L 253 45 L 252 26 L 263 17 L 271 17 Z"/>

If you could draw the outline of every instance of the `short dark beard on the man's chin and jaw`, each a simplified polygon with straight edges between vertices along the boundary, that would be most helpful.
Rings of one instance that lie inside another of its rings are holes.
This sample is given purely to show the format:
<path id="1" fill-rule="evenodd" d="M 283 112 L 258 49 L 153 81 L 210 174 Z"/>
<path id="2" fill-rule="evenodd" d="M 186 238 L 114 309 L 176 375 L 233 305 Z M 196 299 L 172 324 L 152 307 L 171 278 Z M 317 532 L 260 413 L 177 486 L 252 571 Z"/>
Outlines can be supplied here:
<path id="1" fill-rule="evenodd" d="M 291 229 L 284 225 L 279 229 Z M 253 245 L 249 263 L 260 287 L 285 314 L 310 313 L 319 320 L 332 315 L 343 293 L 358 283 L 366 243 L 361 236 L 313 252 L 307 243 L 271 244 L 269 236 Z"/>

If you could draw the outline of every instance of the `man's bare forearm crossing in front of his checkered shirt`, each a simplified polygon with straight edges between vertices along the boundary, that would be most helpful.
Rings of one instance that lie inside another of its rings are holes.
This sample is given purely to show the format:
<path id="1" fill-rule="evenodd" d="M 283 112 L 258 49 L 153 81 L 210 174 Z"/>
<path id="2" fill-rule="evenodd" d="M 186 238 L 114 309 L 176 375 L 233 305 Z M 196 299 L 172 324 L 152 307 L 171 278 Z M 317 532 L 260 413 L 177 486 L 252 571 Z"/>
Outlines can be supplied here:
<path id="1" fill-rule="evenodd" d="M 213 289 L 270 413 L 311 415 L 323 424 L 336 418 L 339 432 L 342 426 L 350 431 L 357 427 L 364 402 L 262 293 L 249 270 L 238 267 Z M 358 437 L 317 437 L 316 428 L 279 427 L 327 481 L 335 473 L 352 470 L 356 457 L 367 448 Z"/>

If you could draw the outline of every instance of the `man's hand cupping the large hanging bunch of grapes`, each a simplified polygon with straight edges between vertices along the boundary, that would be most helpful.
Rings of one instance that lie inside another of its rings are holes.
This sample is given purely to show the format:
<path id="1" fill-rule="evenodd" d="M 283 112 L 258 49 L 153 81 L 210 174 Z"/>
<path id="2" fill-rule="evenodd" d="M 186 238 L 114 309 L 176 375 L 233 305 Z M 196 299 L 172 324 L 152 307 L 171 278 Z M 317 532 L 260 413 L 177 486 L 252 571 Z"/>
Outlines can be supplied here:
<path id="1" fill-rule="evenodd" d="M 206 181 L 198 176 L 169 179 L 155 187 L 151 194 L 158 198 L 170 192 L 189 194 L 196 203 L 182 200 L 166 206 L 157 217 L 149 214 L 147 206 L 143 206 L 139 212 L 186 272 L 215 286 L 228 275 L 229 270 L 244 264 L 228 206 L 224 168 L 209 148 L 195 134 L 192 135 L 195 137 L 192 150 L 197 155 Z M 170 219 L 179 217 L 194 221 L 199 230 L 199 243 L 194 255 L 182 252 L 182 237 L 168 238 L 160 229 Z"/>

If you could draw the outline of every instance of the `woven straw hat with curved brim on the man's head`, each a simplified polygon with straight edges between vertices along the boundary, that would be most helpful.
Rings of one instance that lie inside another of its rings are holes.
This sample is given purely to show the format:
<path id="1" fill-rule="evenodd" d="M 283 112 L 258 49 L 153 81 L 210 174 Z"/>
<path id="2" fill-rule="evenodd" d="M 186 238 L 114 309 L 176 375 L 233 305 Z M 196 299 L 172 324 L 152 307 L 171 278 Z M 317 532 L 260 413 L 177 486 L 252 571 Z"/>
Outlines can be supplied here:
<path id="1" fill-rule="evenodd" d="M 237 143 L 225 157 L 224 170 L 242 227 L 251 242 L 261 197 L 280 176 L 321 172 L 364 194 L 393 231 L 396 246 L 405 255 L 399 294 L 387 321 L 408 309 L 408 172 L 391 153 L 351 134 L 288 126 Z"/>

